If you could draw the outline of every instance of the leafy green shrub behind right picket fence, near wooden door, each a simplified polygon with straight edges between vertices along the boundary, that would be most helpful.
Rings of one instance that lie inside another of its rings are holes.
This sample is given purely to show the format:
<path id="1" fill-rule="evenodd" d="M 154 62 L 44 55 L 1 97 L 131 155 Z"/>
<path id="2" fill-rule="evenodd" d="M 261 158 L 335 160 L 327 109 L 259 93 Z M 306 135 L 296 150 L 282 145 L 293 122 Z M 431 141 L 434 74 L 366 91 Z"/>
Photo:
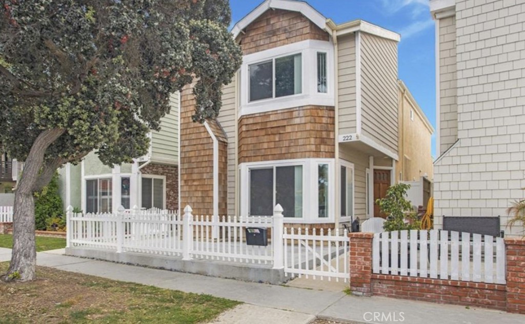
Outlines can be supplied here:
<path id="1" fill-rule="evenodd" d="M 412 209 L 412 204 L 406 200 L 406 191 L 410 185 L 398 183 L 386 191 L 384 198 L 376 200 L 381 211 L 386 214 L 383 228 L 387 232 L 403 231 L 404 229 L 419 229 L 421 222 L 417 213 Z"/>

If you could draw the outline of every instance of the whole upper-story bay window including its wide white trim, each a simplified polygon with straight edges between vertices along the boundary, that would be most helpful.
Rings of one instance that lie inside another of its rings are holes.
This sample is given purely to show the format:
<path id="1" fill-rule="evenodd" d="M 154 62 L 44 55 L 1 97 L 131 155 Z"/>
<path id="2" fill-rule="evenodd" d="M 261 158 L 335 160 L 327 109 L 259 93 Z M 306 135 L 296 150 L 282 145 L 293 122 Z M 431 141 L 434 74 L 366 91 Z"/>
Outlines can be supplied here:
<path id="1" fill-rule="evenodd" d="M 240 116 L 301 106 L 335 106 L 333 44 L 303 40 L 243 57 Z"/>

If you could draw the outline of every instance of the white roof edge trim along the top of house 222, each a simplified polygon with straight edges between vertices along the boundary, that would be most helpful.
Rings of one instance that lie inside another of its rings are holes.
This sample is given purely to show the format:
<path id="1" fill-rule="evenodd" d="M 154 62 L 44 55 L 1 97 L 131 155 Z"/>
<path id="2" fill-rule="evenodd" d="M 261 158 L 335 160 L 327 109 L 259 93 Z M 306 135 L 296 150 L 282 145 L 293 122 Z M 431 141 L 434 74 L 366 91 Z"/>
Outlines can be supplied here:
<path id="1" fill-rule="evenodd" d="M 239 34 L 243 32 L 243 30 L 248 27 L 249 24 L 253 23 L 258 17 L 267 12 L 269 9 L 282 9 L 301 13 L 304 17 L 310 19 L 313 24 L 327 32 L 330 36 L 332 35 L 333 30 L 337 30 L 338 35 L 353 33 L 360 30 L 364 33 L 369 33 L 394 41 L 401 40 L 401 36 L 399 34 L 391 32 L 390 30 L 380 26 L 367 23 L 361 19 L 356 19 L 348 23 L 336 25 L 331 19 L 324 17 L 307 2 L 298 0 L 265 0 L 233 26 L 232 33 L 234 39 L 236 39 L 237 36 L 239 36 Z"/>

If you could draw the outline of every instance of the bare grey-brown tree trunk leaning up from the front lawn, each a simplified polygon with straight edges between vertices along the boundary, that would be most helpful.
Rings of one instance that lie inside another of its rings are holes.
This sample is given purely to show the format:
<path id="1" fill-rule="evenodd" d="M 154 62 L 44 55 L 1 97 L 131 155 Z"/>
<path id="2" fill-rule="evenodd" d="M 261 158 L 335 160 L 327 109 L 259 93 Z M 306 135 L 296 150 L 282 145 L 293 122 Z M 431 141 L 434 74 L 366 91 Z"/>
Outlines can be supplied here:
<path id="1" fill-rule="evenodd" d="M 35 199 L 33 193 L 46 150 L 64 133 L 61 129 L 48 129 L 40 133 L 33 143 L 24 164 L 24 172 L 15 191 L 13 215 L 13 254 L 4 280 L 29 281 L 35 279 Z"/>

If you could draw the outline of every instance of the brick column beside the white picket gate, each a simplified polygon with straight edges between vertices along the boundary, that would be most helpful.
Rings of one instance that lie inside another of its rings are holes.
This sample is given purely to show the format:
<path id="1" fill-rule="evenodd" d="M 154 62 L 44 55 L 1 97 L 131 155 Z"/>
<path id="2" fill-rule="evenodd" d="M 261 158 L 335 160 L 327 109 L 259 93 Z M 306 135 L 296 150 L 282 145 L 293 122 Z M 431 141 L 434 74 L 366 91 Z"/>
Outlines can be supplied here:
<path id="1" fill-rule="evenodd" d="M 353 295 L 372 296 L 373 233 L 349 233 L 350 290 Z"/>

